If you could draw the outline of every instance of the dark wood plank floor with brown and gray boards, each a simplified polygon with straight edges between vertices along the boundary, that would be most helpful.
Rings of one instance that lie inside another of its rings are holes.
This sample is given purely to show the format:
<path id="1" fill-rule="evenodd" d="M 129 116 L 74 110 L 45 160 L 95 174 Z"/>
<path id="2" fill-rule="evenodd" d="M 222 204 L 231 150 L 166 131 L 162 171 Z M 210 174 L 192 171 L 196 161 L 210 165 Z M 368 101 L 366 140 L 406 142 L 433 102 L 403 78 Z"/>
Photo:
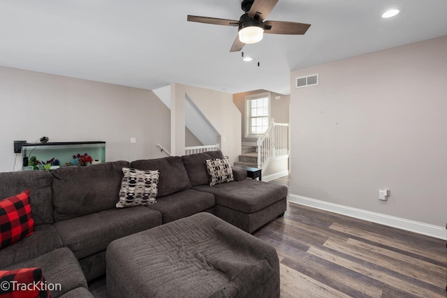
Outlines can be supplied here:
<path id="1" fill-rule="evenodd" d="M 254 236 L 277 249 L 281 297 L 447 297 L 441 239 L 290 202 Z"/>

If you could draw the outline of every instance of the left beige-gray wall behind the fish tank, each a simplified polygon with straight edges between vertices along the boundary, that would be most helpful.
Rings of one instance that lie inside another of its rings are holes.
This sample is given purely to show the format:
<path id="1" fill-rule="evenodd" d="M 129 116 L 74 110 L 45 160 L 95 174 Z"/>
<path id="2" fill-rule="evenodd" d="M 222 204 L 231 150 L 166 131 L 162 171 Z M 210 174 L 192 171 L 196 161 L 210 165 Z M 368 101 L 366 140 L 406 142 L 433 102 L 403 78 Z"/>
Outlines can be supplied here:
<path id="1" fill-rule="evenodd" d="M 105 141 L 106 161 L 166 156 L 156 144 L 170 149 L 170 111 L 149 90 L 0 67 L 0 103 L 0 172 L 13 170 L 14 140 L 43 135 Z"/>

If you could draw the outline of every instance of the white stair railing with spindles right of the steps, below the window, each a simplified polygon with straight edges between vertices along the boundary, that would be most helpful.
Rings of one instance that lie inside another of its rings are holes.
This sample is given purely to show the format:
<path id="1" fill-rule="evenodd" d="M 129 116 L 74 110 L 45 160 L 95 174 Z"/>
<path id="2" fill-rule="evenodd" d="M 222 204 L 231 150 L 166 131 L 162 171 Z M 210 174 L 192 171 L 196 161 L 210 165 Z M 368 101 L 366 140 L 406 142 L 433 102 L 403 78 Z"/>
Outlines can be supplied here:
<path id="1" fill-rule="evenodd" d="M 256 146 L 258 147 L 258 168 L 267 167 L 271 158 L 288 156 L 289 132 L 288 124 L 275 123 L 274 119 L 264 135 L 258 137 Z"/>

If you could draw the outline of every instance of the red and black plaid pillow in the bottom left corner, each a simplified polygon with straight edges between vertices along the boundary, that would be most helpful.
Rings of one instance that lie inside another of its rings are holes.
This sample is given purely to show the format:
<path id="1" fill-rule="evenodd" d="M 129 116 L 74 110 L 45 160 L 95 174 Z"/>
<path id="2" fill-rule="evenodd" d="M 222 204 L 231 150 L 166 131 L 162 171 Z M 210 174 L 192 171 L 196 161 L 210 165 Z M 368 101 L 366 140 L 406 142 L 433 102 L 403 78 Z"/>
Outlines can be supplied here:
<path id="1" fill-rule="evenodd" d="M 0 298 L 50 297 L 47 281 L 40 268 L 0 271 Z"/>

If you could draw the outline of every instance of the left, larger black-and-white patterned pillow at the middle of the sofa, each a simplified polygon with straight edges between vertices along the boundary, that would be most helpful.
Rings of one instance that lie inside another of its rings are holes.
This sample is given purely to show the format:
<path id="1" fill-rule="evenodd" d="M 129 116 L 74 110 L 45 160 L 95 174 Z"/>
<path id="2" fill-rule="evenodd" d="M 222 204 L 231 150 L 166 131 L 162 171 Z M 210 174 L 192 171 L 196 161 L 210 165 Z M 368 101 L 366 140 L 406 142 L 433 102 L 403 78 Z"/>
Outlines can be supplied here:
<path id="1" fill-rule="evenodd" d="M 160 172 L 123 167 L 124 177 L 117 208 L 147 206 L 156 203 Z"/>

